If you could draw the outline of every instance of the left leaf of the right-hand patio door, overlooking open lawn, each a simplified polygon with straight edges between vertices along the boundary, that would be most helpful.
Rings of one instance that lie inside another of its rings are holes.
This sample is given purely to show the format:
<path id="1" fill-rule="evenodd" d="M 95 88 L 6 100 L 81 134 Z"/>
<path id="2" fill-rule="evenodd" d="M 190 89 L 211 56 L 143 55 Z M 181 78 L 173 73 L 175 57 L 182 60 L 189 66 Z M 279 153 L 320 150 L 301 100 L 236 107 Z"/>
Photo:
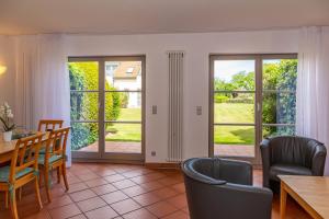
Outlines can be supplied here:
<path id="1" fill-rule="evenodd" d="M 213 61 L 214 155 L 254 158 L 256 59 Z"/>

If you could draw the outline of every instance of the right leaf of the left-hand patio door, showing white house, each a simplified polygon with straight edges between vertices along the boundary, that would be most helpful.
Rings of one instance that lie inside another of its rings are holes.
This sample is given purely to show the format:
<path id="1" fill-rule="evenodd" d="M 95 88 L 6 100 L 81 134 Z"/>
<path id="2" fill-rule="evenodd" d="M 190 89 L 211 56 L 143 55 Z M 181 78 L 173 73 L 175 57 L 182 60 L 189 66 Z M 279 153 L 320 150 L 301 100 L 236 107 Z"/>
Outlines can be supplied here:
<path id="1" fill-rule="evenodd" d="M 105 59 L 105 157 L 125 155 L 138 160 L 143 155 L 143 57 Z"/>

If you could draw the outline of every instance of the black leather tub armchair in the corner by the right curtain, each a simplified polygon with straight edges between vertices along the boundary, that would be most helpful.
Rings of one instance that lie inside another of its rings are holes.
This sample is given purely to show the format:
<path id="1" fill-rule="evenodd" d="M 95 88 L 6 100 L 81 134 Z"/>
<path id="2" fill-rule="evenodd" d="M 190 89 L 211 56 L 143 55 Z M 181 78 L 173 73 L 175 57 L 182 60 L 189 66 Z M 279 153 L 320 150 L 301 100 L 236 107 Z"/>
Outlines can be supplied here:
<path id="1" fill-rule="evenodd" d="M 263 164 L 263 186 L 275 192 L 277 175 L 324 175 L 326 147 L 310 138 L 279 136 L 266 138 L 260 146 Z"/>

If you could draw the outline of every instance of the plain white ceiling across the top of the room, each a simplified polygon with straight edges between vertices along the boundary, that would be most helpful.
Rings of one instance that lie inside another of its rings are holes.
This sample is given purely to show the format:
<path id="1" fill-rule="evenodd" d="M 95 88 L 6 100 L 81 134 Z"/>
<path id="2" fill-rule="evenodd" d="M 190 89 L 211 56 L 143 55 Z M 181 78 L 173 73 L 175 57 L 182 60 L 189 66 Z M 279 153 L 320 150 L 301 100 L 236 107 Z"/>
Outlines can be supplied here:
<path id="1" fill-rule="evenodd" d="M 329 25 L 329 0 L 0 0 L 0 34 L 179 33 Z"/>

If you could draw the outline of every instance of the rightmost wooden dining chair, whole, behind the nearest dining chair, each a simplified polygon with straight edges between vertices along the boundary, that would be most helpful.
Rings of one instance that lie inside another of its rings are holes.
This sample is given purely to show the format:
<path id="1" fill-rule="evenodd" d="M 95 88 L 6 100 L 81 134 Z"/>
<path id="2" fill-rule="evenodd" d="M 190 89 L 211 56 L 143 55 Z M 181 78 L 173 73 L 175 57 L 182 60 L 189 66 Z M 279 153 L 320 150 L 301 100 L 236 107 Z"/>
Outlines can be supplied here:
<path id="1" fill-rule="evenodd" d="M 63 175 L 65 187 L 68 191 L 68 182 L 66 176 L 66 143 L 70 128 L 59 128 L 49 134 L 46 142 L 45 154 L 39 154 L 38 165 L 43 170 L 44 182 L 48 201 L 52 201 L 50 186 L 52 178 L 50 171 L 57 169 L 57 182 L 60 183 L 60 175 Z"/>

